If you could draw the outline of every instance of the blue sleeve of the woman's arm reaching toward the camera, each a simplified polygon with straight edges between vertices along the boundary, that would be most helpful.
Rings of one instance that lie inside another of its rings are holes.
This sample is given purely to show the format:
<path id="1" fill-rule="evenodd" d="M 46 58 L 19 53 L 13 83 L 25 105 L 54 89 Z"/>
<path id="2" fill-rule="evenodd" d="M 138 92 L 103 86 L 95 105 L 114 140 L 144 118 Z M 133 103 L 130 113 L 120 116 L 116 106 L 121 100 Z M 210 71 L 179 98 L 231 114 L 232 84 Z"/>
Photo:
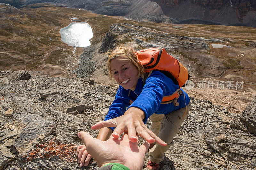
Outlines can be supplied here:
<path id="1" fill-rule="evenodd" d="M 153 72 L 146 79 L 140 95 L 128 108 L 137 107 L 143 110 L 145 113 L 143 122 L 146 124 L 148 118 L 160 107 L 163 97 L 172 94 L 179 88 L 178 85 L 171 82 L 172 80 L 163 73 Z"/>

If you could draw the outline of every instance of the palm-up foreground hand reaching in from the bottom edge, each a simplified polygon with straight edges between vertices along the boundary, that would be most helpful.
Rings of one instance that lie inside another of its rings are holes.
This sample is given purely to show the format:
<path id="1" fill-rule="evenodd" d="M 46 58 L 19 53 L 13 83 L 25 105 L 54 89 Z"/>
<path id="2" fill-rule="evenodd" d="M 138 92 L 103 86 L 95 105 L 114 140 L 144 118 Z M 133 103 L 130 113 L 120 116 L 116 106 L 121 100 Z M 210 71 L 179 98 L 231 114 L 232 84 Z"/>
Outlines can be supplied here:
<path id="1" fill-rule="evenodd" d="M 108 163 L 120 163 L 129 169 L 141 170 L 143 168 L 145 153 L 149 148 L 148 142 L 138 147 L 138 143 L 129 141 L 127 133 L 124 133 L 121 140 L 110 136 L 107 141 L 101 141 L 87 132 L 79 132 L 78 137 L 82 139 L 86 150 L 99 167 Z"/>

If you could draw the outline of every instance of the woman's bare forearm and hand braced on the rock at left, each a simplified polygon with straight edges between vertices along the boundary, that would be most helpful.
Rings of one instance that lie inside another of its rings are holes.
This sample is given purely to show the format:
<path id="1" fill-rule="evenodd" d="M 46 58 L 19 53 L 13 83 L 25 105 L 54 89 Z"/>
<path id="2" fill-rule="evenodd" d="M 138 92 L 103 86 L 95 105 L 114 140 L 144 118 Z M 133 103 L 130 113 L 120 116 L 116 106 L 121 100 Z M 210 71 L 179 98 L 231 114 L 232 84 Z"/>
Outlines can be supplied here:
<path id="1" fill-rule="evenodd" d="M 109 139 L 110 135 L 112 133 L 112 130 L 108 127 L 104 127 L 100 129 L 99 135 L 97 139 L 101 141 L 106 141 Z M 76 152 L 78 153 L 77 161 L 80 166 L 87 166 L 92 159 L 92 156 L 87 152 L 86 146 L 79 145 L 77 146 Z"/>

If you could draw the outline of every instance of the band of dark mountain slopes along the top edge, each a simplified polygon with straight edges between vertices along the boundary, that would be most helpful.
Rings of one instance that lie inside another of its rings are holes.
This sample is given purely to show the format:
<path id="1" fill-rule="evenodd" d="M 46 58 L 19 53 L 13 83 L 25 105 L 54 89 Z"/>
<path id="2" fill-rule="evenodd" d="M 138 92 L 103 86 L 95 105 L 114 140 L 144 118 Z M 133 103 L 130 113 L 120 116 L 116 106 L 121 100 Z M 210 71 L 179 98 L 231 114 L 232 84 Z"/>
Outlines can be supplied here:
<path id="1" fill-rule="evenodd" d="M 256 27 L 256 4 L 250 0 L 26 0 L 25 5 L 40 2 L 84 8 L 98 14 L 125 16 L 139 21 Z"/>

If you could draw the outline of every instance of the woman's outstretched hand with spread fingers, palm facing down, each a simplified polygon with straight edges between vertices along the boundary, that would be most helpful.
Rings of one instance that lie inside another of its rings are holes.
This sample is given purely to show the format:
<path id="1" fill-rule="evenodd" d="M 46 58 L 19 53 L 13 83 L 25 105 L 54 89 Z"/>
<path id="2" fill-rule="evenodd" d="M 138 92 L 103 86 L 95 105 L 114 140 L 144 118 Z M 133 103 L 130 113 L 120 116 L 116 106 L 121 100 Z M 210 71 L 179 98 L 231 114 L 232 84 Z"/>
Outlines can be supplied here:
<path id="1" fill-rule="evenodd" d="M 143 137 L 149 143 L 160 144 L 161 146 L 166 146 L 167 144 L 157 137 L 151 130 L 149 130 L 143 123 L 145 114 L 142 110 L 136 107 L 130 107 L 126 110 L 124 115 L 106 120 L 100 121 L 92 126 L 93 130 L 100 129 L 103 127 L 116 127 L 113 131 L 112 136 L 116 139 L 123 133 L 128 132 L 129 140 L 131 142 L 137 142 L 137 133 Z"/>

